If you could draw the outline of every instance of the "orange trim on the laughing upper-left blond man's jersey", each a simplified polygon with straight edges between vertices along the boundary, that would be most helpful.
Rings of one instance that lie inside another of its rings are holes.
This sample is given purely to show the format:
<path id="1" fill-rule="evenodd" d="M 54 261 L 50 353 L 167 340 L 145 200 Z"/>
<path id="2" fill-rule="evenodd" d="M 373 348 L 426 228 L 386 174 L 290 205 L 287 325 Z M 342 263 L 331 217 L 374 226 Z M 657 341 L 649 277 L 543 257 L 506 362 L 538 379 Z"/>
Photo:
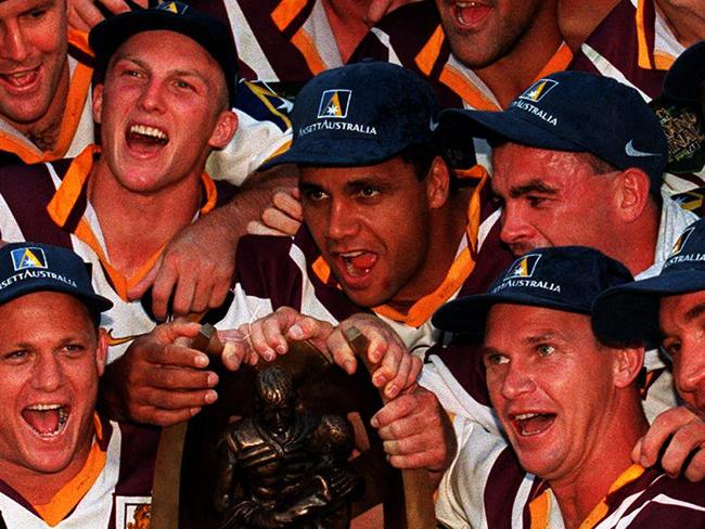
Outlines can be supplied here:
<path id="1" fill-rule="evenodd" d="M 80 197 L 88 181 L 88 177 L 90 176 L 90 171 L 93 167 L 93 156 L 98 153 L 100 153 L 100 147 L 97 145 L 89 145 L 76 158 L 74 158 L 61 185 L 56 190 L 56 193 L 47 205 L 49 216 L 57 225 L 63 228 L 66 224 L 66 221 L 68 220 L 68 217 L 76 206 L 76 202 Z M 205 215 L 215 207 L 218 196 L 215 183 L 205 172 L 201 176 L 201 182 L 204 186 L 206 198 L 198 212 Z M 132 276 L 125 278 L 110 263 L 95 233 L 93 233 L 93 230 L 85 218 L 81 218 L 78 221 L 75 234 L 88 244 L 95 253 L 101 260 L 103 268 L 110 275 L 115 292 L 126 301 L 128 300 L 127 293 L 129 289 L 137 285 L 146 275 L 164 250 L 164 246 L 158 248 L 142 266 L 140 266 Z"/>

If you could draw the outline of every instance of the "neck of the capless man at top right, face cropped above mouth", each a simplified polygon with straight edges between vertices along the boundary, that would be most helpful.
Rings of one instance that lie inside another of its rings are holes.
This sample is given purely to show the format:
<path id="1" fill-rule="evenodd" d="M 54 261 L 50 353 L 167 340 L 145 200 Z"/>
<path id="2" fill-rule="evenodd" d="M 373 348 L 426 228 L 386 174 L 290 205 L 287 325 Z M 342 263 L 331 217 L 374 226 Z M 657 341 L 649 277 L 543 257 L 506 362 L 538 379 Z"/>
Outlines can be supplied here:
<path id="1" fill-rule="evenodd" d="M 529 28 L 512 50 L 473 72 L 491 90 L 502 108 L 526 90 L 563 42 L 554 1 L 540 2 Z"/>

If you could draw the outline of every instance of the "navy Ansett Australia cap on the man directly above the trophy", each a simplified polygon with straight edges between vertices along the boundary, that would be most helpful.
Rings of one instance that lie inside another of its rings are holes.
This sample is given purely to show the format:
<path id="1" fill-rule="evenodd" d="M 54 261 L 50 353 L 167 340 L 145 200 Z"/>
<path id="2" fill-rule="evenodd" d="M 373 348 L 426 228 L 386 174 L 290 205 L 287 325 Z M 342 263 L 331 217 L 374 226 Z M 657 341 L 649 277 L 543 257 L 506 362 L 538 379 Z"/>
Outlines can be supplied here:
<path id="1" fill-rule="evenodd" d="M 292 146 L 260 169 L 382 163 L 433 141 L 439 109 L 428 83 L 401 66 L 363 61 L 329 69 L 296 96 Z"/>

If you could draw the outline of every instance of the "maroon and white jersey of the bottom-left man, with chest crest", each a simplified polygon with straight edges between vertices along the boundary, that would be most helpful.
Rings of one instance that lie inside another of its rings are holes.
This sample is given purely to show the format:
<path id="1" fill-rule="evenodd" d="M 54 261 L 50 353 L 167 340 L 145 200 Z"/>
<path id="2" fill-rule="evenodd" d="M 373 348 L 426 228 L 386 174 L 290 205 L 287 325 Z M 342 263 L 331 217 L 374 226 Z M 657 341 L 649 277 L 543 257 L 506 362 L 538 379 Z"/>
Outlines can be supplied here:
<path id="1" fill-rule="evenodd" d="M 49 504 L 31 505 L 0 479 L 0 527 L 146 527 L 138 522 L 145 516 L 149 519 L 158 440 L 156 428 L 97 418 L 95 438 L 84 468 Z"/>

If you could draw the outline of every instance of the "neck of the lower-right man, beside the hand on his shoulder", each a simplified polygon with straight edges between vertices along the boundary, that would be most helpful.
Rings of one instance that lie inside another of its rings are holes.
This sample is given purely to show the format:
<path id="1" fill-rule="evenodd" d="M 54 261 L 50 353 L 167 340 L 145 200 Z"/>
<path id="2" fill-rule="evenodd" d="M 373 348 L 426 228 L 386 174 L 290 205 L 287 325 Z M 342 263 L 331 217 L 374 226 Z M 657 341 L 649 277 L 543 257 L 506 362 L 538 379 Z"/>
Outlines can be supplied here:
<path id="1" fill-rule="evenodd" d="M 631 466 L 631 450 L 646 431 L 641 401 L 632 387 L 620 390 L 615 413 L 603 415 L 604 425 L 593 428 L 595 444 L 574 473 L 549 479 L 566 529 L 580 527 L 606 496 L 615 480 Z"/>

